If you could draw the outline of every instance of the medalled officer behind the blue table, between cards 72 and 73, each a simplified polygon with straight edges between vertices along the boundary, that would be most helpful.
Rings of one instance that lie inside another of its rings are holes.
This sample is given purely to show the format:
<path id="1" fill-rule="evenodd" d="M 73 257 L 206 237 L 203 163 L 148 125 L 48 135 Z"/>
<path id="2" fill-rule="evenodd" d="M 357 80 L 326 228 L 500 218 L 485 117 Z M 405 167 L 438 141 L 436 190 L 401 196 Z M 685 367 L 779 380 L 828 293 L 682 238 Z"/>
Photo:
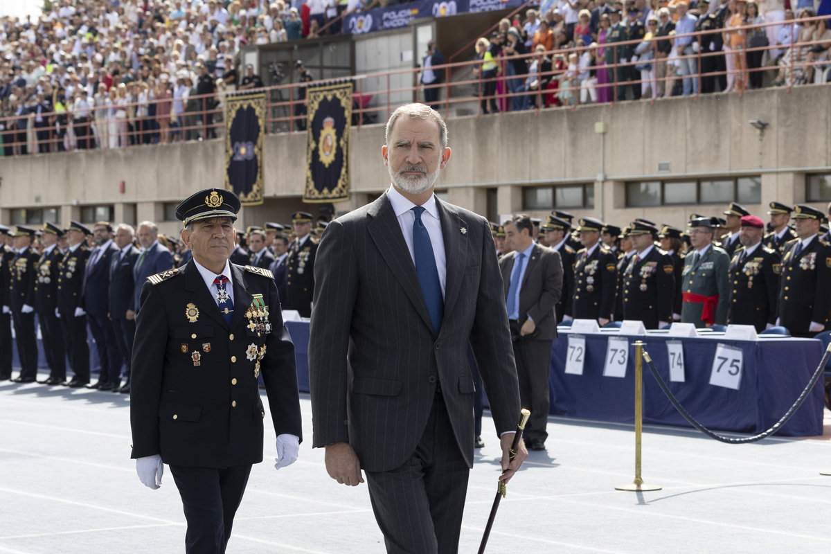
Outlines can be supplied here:
<path id="1" fill-rule="evenodd" d="M 612 320 L 617 287 L 617 259 L 600 243 L 603 222 L 580 219 L 577 228 L 583 248 L 574 260 L 574 319 L 594 319 L 601 326 Z"/>

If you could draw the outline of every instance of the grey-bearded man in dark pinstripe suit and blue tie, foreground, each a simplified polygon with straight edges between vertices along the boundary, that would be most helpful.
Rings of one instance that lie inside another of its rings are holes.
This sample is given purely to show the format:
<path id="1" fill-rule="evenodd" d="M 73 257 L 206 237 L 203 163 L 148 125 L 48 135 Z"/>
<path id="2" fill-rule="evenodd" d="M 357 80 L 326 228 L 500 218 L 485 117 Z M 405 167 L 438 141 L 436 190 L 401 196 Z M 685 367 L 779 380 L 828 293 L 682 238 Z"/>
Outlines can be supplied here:
<path id="1" fill-rule="evenodd" d="M 457 552 L 474 451 L 468 341 L 511 478 L 519 388 L 488 222 L 441 202 L 445 122 L 398 108 L 381 149 L 392 186 L 329 223 L 310 329 L 313 447 L 338 483 L 366 472 L 387 552 Z"/>

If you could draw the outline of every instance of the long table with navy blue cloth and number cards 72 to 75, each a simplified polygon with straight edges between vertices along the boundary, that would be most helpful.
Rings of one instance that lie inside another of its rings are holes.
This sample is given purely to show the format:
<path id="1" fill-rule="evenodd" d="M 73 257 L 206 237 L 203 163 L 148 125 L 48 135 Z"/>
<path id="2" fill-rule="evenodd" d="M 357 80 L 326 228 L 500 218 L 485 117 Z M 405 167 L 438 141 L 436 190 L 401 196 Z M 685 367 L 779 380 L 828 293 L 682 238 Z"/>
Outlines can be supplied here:
<path id="1" fill-rule="evenodd" d="M 627 336 L 629 361 L 626 376 L 605 377 L 607 341 L 601 332 L 583 335 L 586 359 L 583 375 L 565 373 L 568 330 L 551 349 L 551 414 L 583 419 L 633 423 L 635 414 L 635 341 L 644 343 L 656 370 L 682 406 L 708 429 L 756 434 L 776 423 L 808 385 L 822 360 L 822 343 L 815 339 L 760 338 L 757 341 L 725 339 L 723 334 L 678 338 L 649 333 Z M 684 346 L 685 382 L 671 382 L 666 341 Z M 719 343 L 740 348 L 744 367 L 740 387 L 732 390 L 710 385 L 711 368 Z M 814 386 L 804 404 L 777 434 L 793 437 L 823 434 L 824 390 Z M 666 398 L 652 372 L 643 363 L 643 422 L 690 427 Z"/>

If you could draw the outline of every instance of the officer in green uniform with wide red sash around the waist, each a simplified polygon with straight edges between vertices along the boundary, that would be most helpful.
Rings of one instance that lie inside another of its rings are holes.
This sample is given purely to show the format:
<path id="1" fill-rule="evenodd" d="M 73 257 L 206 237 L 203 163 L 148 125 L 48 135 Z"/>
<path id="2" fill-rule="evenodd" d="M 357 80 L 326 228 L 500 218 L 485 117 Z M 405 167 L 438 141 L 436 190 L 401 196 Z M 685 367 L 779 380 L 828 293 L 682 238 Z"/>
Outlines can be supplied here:
<path id="1" fill-rule="evenodd" d="M 681 321 L 696 327 L 726 325 L 730 283 L 727 268 L 730 257 L 713 244 L 718 218 L 696 218 L 690 227 L 691 251 L 684 258 L 681 272 Z"/>

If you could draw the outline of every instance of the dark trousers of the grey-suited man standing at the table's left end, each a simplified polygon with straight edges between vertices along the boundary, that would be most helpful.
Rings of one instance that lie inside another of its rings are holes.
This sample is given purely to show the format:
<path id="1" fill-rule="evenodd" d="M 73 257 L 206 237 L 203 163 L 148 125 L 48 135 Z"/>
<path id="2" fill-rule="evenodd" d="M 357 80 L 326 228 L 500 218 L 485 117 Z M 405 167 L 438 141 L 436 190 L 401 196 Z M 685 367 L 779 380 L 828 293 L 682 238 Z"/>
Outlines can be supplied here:
<path id="1" fill-rule="evenodd" d="M 511 335 L 519 335 L 519 324 L 511 321 Z M 551 371 L 551 345 L 553 341 L 532 339 L 514 341 L 514 360 L 519 379 L 519 401 L 523 408 L 531 410 L 531 417 L 525 425 L 524 439 L 548 439 L 545 430 L 548 424 L 548 408 L 551 397 L 548 389 L 548 375 Z"/>

